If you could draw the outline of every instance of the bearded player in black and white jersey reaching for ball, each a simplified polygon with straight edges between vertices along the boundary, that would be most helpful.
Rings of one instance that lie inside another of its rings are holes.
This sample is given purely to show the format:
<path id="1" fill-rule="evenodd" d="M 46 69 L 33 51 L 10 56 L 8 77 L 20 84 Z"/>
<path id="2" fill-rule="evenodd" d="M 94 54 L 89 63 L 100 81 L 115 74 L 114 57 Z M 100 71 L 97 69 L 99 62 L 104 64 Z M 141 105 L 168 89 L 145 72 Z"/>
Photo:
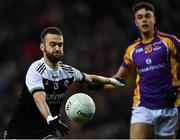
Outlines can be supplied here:
<path id="1" fill-rule="evenodd" d="M 124 86 L 119 79 L 82 73 L 60 62 L 63 56 L 63 35 L 59 28 L 48 27 L 41 33 L 43 58 L 29 67 L 22 94 L 4 138 L 48 139 L 64 136 L 69 128 L 60 118 L 65 92 L 73 82 L 89 82 Z"/>

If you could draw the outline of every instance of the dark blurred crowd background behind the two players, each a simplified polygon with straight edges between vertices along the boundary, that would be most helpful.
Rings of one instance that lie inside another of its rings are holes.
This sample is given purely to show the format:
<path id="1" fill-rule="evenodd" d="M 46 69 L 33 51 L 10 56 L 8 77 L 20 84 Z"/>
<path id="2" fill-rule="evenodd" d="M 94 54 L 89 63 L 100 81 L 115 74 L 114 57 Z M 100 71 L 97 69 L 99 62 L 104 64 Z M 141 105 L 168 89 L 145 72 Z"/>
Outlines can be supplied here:
<path id="1" fill-rule="evenodd" d="M 63 62 L 86 72 L 112 76 L 127 46 L 138 37 L 131 7 L 140 0 L 3 0 L 0 1 L 0 138 L 21 93 L 29 65 L 42 57 L 41 31 L 57 26 L 64 34 Z M 180 0 L 150 0 L 156 8 L 157 28 L 180 37 Z M 129 138 L 135 73 L 127 87 L 91 91 L 83 85 L 75 92 L 89 94 L 96 103 L 93 120 L 71 128 L 65 138 Z M 33 114 L 30 114 L 33 115 Z"/>

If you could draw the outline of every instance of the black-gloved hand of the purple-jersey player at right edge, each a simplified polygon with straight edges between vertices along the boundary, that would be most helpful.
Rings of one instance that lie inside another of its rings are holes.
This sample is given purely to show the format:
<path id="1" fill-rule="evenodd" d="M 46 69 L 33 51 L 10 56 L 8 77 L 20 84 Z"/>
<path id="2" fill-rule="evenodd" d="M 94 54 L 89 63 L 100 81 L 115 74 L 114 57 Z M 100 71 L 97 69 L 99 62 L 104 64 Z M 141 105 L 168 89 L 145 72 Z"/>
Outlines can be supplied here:
<path id="1" fill-rule="evenodd" d="M 173 105 L 176 102 L 176 99 L 180 93 L 180 86 L 173 86 L 166 92 L 166 102 L 170 105 Z"/>

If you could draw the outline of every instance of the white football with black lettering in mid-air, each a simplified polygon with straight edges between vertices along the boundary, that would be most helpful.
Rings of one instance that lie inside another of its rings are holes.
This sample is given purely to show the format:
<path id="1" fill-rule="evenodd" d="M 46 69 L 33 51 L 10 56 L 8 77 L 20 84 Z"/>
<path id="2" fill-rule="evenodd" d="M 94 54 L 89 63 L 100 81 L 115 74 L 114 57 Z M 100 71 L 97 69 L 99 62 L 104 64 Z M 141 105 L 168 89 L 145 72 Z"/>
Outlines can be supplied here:
<path id="1" fill-rule="evenodd" d="M 68 118 L 77 123 L 89 122 L 94 117 L 95 110 L 94 101 L 85 93 L 76 93 L 70 96 L 65 104 Z"/>

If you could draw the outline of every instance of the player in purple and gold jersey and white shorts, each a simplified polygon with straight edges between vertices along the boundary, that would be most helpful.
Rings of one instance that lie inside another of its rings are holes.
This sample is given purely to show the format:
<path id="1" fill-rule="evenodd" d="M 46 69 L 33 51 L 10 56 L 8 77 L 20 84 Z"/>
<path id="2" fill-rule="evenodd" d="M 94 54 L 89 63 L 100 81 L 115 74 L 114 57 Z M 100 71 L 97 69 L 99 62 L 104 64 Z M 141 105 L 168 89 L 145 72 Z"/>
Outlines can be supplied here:
<path id="1" fill-rule="evenodd" d="M 132 70 L 137 71 L 130 138 L 175 138 L 180 41 L 174 35 L 155 29 L 156 18 L 151 4 L 135 4 L 133 14 L 140 37 L 128 46 L 114 75 L 126 80 Z"/>

